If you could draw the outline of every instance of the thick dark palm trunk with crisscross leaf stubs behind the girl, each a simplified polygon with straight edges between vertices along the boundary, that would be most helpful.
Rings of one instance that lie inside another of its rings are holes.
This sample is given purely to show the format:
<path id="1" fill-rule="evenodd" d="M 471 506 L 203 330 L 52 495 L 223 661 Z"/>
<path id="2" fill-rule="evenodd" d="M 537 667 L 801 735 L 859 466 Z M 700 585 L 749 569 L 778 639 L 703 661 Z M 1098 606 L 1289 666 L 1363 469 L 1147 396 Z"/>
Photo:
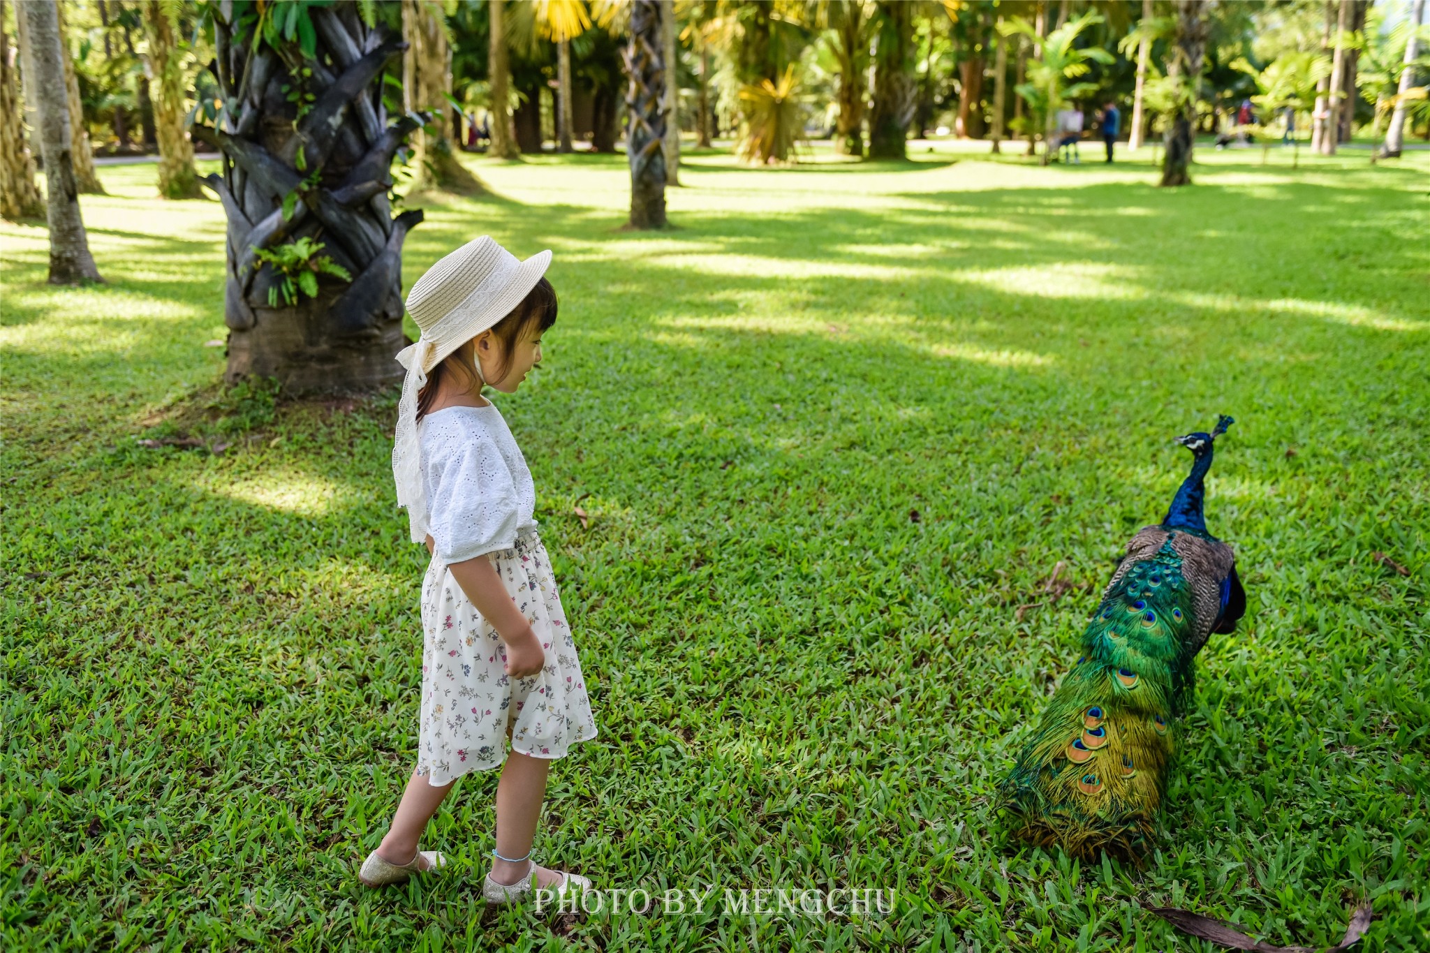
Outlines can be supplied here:
<path id="1" fill-rule="evenodd" d="M 202 181 L 229 219 L 225 323 L 226 377 L 277 377 L 290 393 L 370 390 L 395 381 L 403 347 L 402 243 L 422 211 L 396 219 L 388 203 L 392 156 L 428 116 L 388 124 L 383 71 L 406 43 L 362 21 L 350 0 L 307 9 L 317 56 L 296 44 L 253 49 L 247 23 L 229 4 L 214 10 L 222 96 L 235 109 L 194 139 L 223 153 L 223 173 Z M 310 70 L 302 76 L 300 70 Z M 290 91 L 313 94 L 299 116 Z M 289 214 L 285 216 L 285 199 Z M 317 294 L 296 306 L 273 303 L 279 277 L 256 257 L 299 237 L 325 244 L 320 254 L 350 281 L 323 276 Z"/>

